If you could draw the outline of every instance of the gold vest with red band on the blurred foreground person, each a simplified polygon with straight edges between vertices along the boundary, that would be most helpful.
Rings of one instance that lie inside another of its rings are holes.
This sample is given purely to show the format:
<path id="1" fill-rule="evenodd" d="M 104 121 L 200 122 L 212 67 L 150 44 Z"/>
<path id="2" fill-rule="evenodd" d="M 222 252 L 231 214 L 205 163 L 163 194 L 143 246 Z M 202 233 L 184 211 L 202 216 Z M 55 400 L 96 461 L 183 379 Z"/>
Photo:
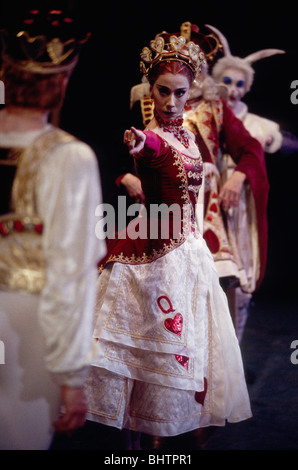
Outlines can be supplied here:
<path id="1" fill-rule="evenodd" d="M 43 221 L 38 215 L 36 183 L 51 151 L 75 138 L 60 129 L 38 137 L 19 156 L 13 182 L 12 212 L 0 216 L 0 289 L 39 293 L 46 280 Z"/>

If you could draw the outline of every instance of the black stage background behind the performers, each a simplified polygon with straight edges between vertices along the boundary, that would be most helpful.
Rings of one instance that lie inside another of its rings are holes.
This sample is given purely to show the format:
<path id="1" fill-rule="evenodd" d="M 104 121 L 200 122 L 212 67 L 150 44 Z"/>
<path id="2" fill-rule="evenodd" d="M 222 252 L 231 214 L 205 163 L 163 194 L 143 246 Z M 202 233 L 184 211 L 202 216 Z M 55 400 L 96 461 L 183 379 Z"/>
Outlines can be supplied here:
<path id="1" fill-rule="evenodd" d="M 1 25 L 14 19 L 24 6 L 47 4 L 51 8 L 68 6 L 92 32 L 71 78 L 60 124 L 95 150 L 105 202 L 115 200 L 115 168 L 125 152 L 122 135 L 131 124 L 129 93 L 140 82 L 141 49 L 162 30 L 179 31 L 184 21 L 200 27 L 214 25 L 227 37 L 232 54 L 240 57 L 264 48 L 284 49 L 285 55 L 255 63 L 255 82 L 244 101 L 251 112 L 298 135 L 298 104 L 290 100 L 291 83 L 298 80 L 298 15 L 292 2 L 1 0 Z M 271 186 L 269 252 L 266 277 L 257 296 L 297 302 L 298 153 L 267 155 L 266 161 Z"/>

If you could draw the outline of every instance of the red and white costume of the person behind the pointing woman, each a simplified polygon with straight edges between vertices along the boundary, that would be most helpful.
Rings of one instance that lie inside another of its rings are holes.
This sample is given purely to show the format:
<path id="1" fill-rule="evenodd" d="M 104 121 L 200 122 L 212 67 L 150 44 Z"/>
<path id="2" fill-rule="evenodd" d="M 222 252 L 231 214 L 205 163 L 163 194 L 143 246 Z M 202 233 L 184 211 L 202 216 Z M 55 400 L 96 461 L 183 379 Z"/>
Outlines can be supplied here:
<path id="1" fill-rule="evenodd" d="M 204 161 L 204 239 L 219 277 L 237 290 L 235 328 L 241 340 L 248 304 L 261 285 L 267 260 L 269 184 L 264 152 L 224 100 L 195 101 L 185 122 Z M 218 196 L 235 170 L 246 175 L 239 205 L 223 211 Z"/>

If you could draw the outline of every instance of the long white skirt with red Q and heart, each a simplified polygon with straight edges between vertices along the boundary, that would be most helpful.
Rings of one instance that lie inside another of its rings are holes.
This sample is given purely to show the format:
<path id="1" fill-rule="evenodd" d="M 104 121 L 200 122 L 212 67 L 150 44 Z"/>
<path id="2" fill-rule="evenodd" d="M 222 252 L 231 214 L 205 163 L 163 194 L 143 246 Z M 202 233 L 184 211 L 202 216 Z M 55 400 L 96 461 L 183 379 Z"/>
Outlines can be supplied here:
<path id="1" fill-rule="evenodd" d="M 88 419 L 156 436 L 251 417 L 226 296 L 201 236 L 99 277 Z"/>

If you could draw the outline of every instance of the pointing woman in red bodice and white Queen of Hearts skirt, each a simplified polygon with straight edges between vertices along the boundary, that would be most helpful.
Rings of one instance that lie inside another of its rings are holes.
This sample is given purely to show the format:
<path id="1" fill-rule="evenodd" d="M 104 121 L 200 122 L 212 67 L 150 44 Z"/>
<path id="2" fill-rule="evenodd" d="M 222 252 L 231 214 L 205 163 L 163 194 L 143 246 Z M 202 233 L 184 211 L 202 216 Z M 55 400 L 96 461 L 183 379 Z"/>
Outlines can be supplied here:
<path id="1" fill-rule="evenodd" d="M 124 134 L 146 200 L 101 266 L 88 419 L 174 436 L 251 410 L 227 300 L 194 215 L 201 155 L 182 127 L 203 55 L 167 33 L 150 45 L 141 65 L 155 116 L 144 132 Z"/>

